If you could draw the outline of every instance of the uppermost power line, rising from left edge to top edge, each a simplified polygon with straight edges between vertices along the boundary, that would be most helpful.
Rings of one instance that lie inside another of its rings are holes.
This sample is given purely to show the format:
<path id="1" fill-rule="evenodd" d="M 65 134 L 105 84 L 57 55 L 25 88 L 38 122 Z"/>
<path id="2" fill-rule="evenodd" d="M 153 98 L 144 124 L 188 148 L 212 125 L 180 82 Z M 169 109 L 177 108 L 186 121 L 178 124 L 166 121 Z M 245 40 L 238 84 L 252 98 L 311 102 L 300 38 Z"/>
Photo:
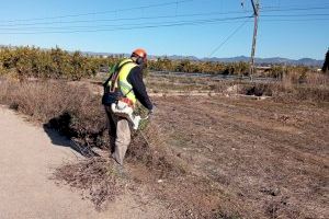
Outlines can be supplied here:
<path id="1" fill-rule="evenodd" d="M 191 1 L 194 1 L 194 0 L 181 0 L 181 1 L 177 0 L 177 1 L 170 1 L 170 2 L 164 2 L 164 3 L 148 4 L 148 5 L 141 5 L 141 7 L 126 8 L 126 9 L 117 9 L 117 10 L 111 10 L 111 11 L 97 11 L 97 12 L 67 14 L 67 15 L 59 15 L 59 16 L 44 16 L 44 18 L 35 18 L 35 19 L 18 19 L 18 20 L 7 20 L 7 21 L 0 21 L 0 22 L 41 21 L 41 20 L 50 20 L 50 19 L 78 18 L 78 16 L 117 13 L 117 12 L 123 12 L 123 11 L 133 11 L 133 10 L 140 10 L 140 9 L 166 7 L 166 5 L 185 3 L 185 2 L 191 2 Z"/>

